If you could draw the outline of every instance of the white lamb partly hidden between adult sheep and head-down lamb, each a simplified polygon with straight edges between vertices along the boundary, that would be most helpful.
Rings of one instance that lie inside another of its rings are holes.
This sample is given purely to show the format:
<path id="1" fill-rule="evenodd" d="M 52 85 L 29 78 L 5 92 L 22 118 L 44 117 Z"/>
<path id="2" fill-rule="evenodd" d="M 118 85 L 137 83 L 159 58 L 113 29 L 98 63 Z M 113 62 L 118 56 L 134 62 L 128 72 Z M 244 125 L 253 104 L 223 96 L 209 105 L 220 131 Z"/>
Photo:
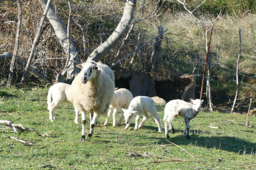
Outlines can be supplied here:
<path id="1" fill-rule="evenodd" d="M 116 126 L 116 115 L 119 110 L 119 107 L 124 108 L 124 106 L 125 106 L 126 108 L 128 108 L 132 98 L 133 98 L 133 96 L 132 96 L 131 92 L 127 89 L 122 88 L 122 89 L 115 90 L 114 97 L 109 105 L 109 111 L 107 112 L 107 119 L 106 119 L 106 122 L 104 123 L 104 126 L 107 126 L 107 123 L 109 123 L 110 114 L 114 110 L 114 112 L 113 112 L 113 127 L 115 127 Z M 124 119 L 124 112 L 121 110 L 121 116 L 117 123 L 117 126 L 119 126 L 122 123 L 123 119 Z"/>

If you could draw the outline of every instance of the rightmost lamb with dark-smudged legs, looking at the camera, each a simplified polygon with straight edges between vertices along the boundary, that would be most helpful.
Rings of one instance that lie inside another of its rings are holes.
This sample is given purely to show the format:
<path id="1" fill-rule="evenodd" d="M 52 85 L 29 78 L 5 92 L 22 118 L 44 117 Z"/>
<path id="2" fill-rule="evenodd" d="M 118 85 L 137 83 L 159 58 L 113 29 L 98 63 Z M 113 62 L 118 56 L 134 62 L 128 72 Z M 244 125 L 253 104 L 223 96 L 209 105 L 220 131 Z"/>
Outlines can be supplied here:
<path id="1" fill-rule="evenodd" d="M 185 119 L 186 129 L 184 134 L 187 139 L 190 138 L 189 122 L 191 119 L 196 117 L 196 115 L 199 113 L 201 109 L 202 103 L 204 102 L 204 100 L 200 100 L 200 99 L 196 99 L 196 100 L 190 99 L 190 100 L 192 104 L 179 99 L 171 100 L 166 104 L 164 122 L 165 122 L 165 135 L 167 138 L 169 138 L 168 126 L 170 126 L 172 133 L 174 133 L 174 128 L 171 124 L 171 121 L 177 116 L 181 116 Z"/>

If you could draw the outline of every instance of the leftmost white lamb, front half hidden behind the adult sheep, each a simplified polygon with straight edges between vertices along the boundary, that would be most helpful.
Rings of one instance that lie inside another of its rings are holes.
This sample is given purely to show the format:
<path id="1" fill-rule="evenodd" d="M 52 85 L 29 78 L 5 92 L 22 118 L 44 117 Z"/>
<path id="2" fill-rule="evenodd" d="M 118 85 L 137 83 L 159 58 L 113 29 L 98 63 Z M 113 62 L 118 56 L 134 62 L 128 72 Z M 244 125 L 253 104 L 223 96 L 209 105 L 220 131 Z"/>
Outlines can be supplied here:
<path id="1" fill-rule="evenodd" d="M 61 102 L 67 102 L 73 104 L 73 96 L 72 96 L 72 89 L 71 85 L 65 83 L 57 83 L 50 87 L 47 96 L 47 104 L 49 110 L 49 119 L 53 122 L 56 117 L 54 114 L 54 109 L 57 107 Z M 74 106 L 75 107 L 75 106 Z M 76 117 L 75 123 L 78 123 L 79 111 L 75 107 Z"/>

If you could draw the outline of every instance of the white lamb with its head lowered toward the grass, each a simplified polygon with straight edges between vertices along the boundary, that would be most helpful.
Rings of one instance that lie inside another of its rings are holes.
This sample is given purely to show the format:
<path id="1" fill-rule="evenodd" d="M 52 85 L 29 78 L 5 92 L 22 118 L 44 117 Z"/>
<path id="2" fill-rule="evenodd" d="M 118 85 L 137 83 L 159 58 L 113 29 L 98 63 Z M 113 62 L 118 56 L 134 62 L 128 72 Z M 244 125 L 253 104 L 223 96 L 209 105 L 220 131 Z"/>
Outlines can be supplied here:
<path id="1" fill-rule="evenodd" d="M 143 125 L 143 123 L 147 120 L 147 117 L 149 116 L 147 112 L 150 112 L 150 115 L 152 119 L 155 120 L 157 126 L 158 126 L 158 131 L 161 133 L 162 132 L 162 127 L 161 127 L 161 121 L 160 118 L 157 116 L 157 111 L 156 111 L 156 104 L 153 99 L 150 97 L 146 96 L 137 96 L 132 99 L 129 107 L 127 110 L 122 108 L 124 111 L 124 117 L 125 117 L 125 129 L 128 129 L 130 124 L 131 124 L 131 119 L 133 118 L 134 114 L 136 114 L 136 122 L 135 122 L 135 127 L 134 130 L 137 131 L 138 128 L 140 129 Z M 143 119 L 139 124 L 140 117 L 143 115 Z"/>

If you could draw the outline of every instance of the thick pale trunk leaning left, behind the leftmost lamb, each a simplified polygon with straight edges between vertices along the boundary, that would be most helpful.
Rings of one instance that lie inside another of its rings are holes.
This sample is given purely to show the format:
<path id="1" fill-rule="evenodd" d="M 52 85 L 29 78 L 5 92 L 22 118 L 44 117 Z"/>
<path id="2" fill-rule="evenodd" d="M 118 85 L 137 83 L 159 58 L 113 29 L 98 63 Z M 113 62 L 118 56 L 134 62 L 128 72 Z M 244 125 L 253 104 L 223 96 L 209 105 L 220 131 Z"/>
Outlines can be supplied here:
<path id="1" fill-rule="evenodd" d="M 45 9 L 46 6 L 46 0 L 39 0 L 42 9 Z M 54 28 L 55 35 L 59 39 L 60 44 L 62 48 L 65 51 L 65 54 L 67 55 L 67 30 L 64 25 L 64 22 L 60 18 L 60 16 L 55 12 L 54 6 L 52 3 L 50 3 L 49 10 L 47 12 L 46 17 L 50 21 L 52 27 Z M 67 66 L 67 76 L 66 76 L 66 82 L 71 83 L 74 79 L 75 75 L 80 72 L 80 69 L 76 67 L 76 64 L 79 64 L 79 58 L 78 55 L 76 55 L 76 48 L 74 43 L 70 43 L 70 59 Z"/>

